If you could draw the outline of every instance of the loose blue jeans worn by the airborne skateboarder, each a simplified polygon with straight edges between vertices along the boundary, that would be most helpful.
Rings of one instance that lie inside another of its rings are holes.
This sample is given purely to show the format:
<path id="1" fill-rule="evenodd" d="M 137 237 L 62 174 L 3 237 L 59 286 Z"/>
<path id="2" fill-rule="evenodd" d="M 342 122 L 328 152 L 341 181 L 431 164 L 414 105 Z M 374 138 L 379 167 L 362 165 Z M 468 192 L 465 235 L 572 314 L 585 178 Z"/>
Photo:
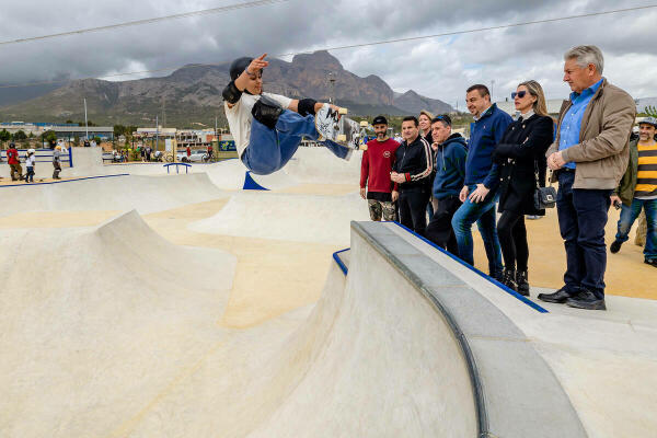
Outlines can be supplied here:
<path id="1" fill-rule="evenodd" d="M 249 146 L 242 153 L 242 162 L 258 175 L 268 175 L 280 170 L 292 158 L 301 139 L 311 140 L 319 138 L 314 125 L 314 116 L 302 115 L 286 110 L 278 117 L 276 129 L 269 129 L 256 119 L 251 123 L 251 138 Z M 331 140 L 323 142 L 336 157 L 347 159 L 350 149 Z"/>

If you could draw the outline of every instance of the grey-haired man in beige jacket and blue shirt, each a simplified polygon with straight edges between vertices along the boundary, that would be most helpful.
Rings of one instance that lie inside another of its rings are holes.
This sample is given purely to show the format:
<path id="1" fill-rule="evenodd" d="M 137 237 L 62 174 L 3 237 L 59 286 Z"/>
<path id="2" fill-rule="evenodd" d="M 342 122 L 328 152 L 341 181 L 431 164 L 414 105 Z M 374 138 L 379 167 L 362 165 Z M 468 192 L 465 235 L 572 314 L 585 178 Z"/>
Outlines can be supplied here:
<path id="1" fill-rule="evenodd" d="M 539 299 L 606 310 L 604 226 L 610 195 L 627 169 L 636 105 L 602 78 L 604 59 L 598 47 L 574 47 L 564 60 L 564 81 L 573 93 L 562 105 L 556 140 L 546 157 L 558 181 L 556 208 L 567 268 L 564 287 Z"/>

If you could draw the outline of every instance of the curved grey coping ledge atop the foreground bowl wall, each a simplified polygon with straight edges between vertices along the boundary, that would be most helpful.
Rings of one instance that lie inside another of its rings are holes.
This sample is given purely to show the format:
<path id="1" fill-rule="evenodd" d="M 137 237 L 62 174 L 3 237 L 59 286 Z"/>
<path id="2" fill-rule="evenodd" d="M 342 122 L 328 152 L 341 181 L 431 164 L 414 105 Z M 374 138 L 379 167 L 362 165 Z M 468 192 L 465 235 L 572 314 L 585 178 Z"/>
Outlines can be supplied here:
<path id="1" fill-rule="evenodd" d="M 384 223 L 351 222 L 351 233 L 449 323 L 469 367 L 480 437 L 587 437 L 561 382 L 506 314 Z"/>

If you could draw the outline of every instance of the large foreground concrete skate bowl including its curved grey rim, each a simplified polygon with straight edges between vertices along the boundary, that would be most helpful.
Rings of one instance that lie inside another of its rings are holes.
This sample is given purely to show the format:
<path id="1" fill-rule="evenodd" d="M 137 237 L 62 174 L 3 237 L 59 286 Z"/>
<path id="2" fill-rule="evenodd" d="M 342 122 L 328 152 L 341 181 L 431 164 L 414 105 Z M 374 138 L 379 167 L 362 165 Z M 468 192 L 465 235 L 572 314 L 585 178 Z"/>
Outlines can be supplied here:
<path id="1" fill-rule="evenodd" d="M 332 263 L 316 304 L 240 331 L 217 324 L 234 258 L 135 211 L 2 231 L 0 435 L 586 436 L 522 333 L 390 227 L 354 223 L 348 275 Z"/>

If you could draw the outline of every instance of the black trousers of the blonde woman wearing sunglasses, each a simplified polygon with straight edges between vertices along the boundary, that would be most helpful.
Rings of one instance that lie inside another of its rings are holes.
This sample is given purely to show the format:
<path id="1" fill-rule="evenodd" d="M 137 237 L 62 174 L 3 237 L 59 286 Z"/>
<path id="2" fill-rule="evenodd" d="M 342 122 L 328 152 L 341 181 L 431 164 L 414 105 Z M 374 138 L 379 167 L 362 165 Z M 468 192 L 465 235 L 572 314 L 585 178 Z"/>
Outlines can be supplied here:
<path id="1" fill-rule="evenodd" d="M 525 215 L 505 210 L 497 222 L 497 237 L 507 269 L 527 270 L 529 262 L 529 245 Z"/>

